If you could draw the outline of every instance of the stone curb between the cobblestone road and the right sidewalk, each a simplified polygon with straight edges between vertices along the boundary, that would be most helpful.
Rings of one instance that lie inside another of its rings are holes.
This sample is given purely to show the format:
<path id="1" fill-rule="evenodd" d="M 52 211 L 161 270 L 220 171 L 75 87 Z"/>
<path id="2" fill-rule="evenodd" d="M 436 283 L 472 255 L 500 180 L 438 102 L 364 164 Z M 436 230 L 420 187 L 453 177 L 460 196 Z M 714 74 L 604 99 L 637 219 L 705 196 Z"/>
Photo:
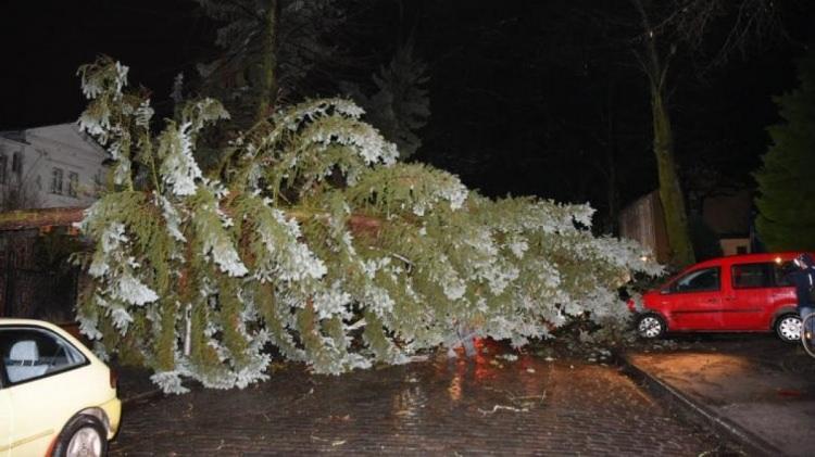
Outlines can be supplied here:
<path id="1" fill-rule="evenodd" d="M 685 412 L 685 415 L 688 416 L 688 419 L 712 427 L 717 432 L 728 435 L 732 441 L 744 446 L 750 455 L 783 455 L 780 449 L 755 435 L 753 432 L 731 422 L 729 419 L 693 401 L 670 384 L 663 382 L 659 378 L 640 369 L 632 364 L 625 354 L 615 354 L 615 358 L 620 366 L 623 373 L 631 378 L 635 382 L 638 382 L 652 395 L 667 399 L 672 406 L 676 406 L 680 411 Z"/>

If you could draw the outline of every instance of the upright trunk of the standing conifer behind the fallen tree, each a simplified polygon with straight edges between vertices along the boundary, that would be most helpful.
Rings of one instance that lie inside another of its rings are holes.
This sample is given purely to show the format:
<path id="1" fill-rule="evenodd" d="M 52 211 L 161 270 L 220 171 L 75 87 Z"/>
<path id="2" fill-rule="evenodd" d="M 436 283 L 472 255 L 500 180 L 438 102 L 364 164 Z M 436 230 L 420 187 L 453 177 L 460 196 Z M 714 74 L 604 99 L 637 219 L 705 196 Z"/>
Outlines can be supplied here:
<path id="1" fill-rule="evenodd" d="M 255 123 L 268 116 L 274 110 L 275 99 L 277 98 L 277 21 L 279 17 L 279 0 L 268 0 L 268 8 L 263 17 L 263 36 L 261 37 Z"/>

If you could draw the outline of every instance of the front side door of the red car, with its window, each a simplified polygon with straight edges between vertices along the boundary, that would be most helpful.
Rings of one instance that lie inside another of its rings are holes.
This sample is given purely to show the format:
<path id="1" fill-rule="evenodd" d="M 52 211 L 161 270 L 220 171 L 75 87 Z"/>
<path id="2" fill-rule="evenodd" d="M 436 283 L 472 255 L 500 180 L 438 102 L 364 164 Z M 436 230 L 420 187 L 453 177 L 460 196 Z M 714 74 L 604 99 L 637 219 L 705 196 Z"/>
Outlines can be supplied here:
<path id="1" fill-rule="evenodd" d="M 686 272 L 660 297 L 672 330 L 717 330 L 722 327 L 722 275 L 718 266 Z"/>

